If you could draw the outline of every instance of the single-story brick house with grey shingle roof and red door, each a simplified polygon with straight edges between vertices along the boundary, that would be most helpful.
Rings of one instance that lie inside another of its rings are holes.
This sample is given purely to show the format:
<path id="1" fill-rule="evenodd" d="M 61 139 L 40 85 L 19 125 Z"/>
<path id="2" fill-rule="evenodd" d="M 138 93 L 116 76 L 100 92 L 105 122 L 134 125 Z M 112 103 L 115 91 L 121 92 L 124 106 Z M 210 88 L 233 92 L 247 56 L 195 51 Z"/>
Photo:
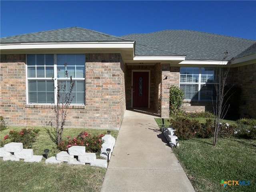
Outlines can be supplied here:
<path id="1" fill-rule="evenodd" d="M 112 36 L 79 27 L 0 39 L 0 115 L 13 126 L 54 126 L 53 83 L 75 82 L 67 127 L 120 128 L 129 108 L 169 116 L 169 89 L 186 111 L 212 110 L 216 68 L 230 64 L 239 114 L 256 118 L 256 41 L 191 30 Z M 228 50 L 228 57 L 224 52 Z M 52 80 L 52 78 L 54 80 Z"/>

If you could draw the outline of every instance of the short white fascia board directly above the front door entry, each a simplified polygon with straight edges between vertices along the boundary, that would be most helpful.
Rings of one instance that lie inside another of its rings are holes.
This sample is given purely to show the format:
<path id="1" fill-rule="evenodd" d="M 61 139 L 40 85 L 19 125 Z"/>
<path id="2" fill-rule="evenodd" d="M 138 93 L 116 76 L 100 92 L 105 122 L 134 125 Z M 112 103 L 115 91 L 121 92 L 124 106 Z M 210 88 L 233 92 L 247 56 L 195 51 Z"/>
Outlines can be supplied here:
<path id="1" fill-rule="evenodd" d="M 186 56 L 134 56 L 134 61 L 183 61 Z"/>

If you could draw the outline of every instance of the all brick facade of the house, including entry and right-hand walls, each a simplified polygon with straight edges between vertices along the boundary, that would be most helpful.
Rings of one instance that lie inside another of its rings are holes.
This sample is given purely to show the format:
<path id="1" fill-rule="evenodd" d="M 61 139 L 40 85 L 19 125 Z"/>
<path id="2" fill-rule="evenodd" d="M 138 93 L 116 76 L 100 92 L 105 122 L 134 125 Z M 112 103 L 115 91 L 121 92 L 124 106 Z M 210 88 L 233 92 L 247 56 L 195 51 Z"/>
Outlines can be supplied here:
<path id="1" fill-rule="evenodd" d="M 119 128 L 132 106 L 132 70 L 150 70 L 150 109 L 169 117 L 170 86 L 179 85 L 180 67 L 126 65 L 120 54 L 85 55 L 85 105 L 70 106 L 66 127 Z M 52 105 L 26 104 L 25 62 L 25 54 L 1 55 L 0 115 L 10 126 L 54 126 Z M 229 77 L 229 84 L 242 88 L 240 117 L 246 113 L 255 118 L 256 64 L 231 68 Z M 184 101 L 182 108 L 212 110 L 212 102 Z"/>

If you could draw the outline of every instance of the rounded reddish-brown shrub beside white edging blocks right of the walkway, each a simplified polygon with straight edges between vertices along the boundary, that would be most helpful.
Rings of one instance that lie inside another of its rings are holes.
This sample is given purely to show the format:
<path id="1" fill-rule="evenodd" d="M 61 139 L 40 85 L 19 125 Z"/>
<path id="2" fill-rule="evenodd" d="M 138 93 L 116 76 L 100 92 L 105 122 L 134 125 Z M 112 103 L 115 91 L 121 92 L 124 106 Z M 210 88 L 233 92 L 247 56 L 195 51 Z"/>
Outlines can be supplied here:
<path id="1" fill-rule="evenodd" d="M 175 129 L 175 134 L 180 140 L 186 140 L 195 137 L 196 130 L 200 129 L 198 120 L 190 120 L 180 117 L 173 121 L 172 126 Z"/>

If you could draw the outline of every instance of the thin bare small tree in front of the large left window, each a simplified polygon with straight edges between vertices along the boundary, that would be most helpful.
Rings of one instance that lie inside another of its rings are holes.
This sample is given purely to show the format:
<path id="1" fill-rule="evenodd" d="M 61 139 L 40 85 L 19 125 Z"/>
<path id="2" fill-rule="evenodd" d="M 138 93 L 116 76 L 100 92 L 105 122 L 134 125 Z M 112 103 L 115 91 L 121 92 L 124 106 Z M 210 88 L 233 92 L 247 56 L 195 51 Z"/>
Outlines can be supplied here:
<path id="1" fill-rule="evenodd" d="M 64 66 L 67 66 L 67 63 L 65 63 Z M 65 77 L 68 78 L 67 70 L 65 70 Z M 68 108 L 74 98 L 74 96 L 72 96 L 72 90 L 74 89 L 75 83 L 72 80 L 72 76 L 70 76 L 69 86 L 66 85 L 66 80 L 64 83 L 58 80 L 57 85 L 55 85 L 56 78 L 52 78 L 52 80 L 54 81 L 54 93 L 56 94 L 55 98 L 57 99 L 56 103 L 54 103 L 56 126 L 54 133 L 51 133 L 48 130 L 48 134 L 57 145 L 60 145 L 62 142 L 62 133 L 66 123 Z"/>

